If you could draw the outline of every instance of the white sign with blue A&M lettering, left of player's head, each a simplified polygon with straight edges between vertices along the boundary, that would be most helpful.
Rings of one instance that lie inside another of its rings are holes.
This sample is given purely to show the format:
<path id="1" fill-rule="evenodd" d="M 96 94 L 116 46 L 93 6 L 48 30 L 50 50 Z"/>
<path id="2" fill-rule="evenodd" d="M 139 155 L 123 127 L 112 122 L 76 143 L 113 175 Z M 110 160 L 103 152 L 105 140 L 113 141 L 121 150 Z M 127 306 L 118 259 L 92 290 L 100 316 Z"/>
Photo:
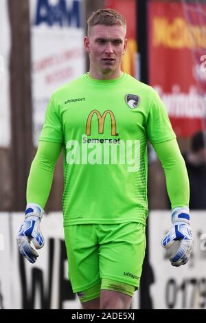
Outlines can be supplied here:
<path id="1" fill-rule="evenodd" d="M 30 0 L 34 144 L 38 144 L 49 98 L 84 74 L 80 0 Z"/>

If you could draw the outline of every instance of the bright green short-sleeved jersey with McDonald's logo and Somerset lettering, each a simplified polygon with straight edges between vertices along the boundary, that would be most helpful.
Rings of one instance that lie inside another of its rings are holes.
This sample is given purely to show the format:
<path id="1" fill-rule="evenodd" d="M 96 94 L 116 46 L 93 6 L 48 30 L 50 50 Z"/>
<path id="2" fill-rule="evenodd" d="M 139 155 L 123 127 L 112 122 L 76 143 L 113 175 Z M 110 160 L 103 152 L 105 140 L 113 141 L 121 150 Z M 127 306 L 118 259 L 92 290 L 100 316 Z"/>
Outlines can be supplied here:
<path id="1" fill-rule="evenodd" d="M 148 140 L 174 137 L 157 92 L 128 74 L 113 80 L 84 74 L 58 89 L 39 140 L 64 148 L 65 225 L 145 224 Z"/>

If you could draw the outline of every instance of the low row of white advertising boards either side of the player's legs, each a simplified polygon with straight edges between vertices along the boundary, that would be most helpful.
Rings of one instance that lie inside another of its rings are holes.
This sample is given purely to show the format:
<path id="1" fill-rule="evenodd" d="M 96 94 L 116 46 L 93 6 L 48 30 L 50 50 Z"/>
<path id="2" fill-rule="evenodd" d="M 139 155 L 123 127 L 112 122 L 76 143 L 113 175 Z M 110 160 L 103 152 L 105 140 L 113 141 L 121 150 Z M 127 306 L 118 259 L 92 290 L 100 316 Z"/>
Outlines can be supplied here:
<path id="1" fill-rule="evenodd" d="M 148 280 L 153 309 L 206 309 L 206 217 L 204 211 L 190 213 L 192 256 L 187 265 L 172 267 L 170 252 L 160 244 L 172 227 L 170 212 L 150 212 Z M 81 309 L 68 280 L 61 212 L 44 215 L 45 245 L 34 265 L 19 254 L 16 245 L 23 219 L 23 213 L 0 213 L 0 309 Z M 139 309 L 139 297 L 135 292 L 133 309 Z"/>

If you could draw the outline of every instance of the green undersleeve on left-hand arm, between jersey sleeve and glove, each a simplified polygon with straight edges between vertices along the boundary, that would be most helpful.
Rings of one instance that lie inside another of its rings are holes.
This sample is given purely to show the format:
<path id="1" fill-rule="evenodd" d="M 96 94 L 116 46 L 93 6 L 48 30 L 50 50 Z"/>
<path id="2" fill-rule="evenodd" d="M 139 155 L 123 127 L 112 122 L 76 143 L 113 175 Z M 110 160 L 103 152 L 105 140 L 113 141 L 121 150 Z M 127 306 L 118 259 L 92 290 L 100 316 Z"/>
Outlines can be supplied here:
<path id="1" fill-rule="evenodd" d="M 54 168 L 62 144 L 39 142 L 27 181 L 27 203 L 36 203 L 43 209 L 52 186 Z"/>

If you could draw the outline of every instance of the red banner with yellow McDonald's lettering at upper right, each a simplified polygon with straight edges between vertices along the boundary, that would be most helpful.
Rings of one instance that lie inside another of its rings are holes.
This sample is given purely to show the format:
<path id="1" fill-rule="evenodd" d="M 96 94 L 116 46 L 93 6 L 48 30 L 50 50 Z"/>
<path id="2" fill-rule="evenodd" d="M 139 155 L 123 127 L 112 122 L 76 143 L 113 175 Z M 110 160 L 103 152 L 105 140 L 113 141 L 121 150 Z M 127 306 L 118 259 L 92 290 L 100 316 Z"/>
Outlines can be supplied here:
<path id="1" fill-rule="evenodd" d="M 198 8 L 197 8 L 198 7 Z M 198 11 L 201 7 L 201 10 Z M 198 10 L 197 10 L 198 9 Z M 149 81 L 165 102 L 177 136 L 203 129 L 206 71 L 206 5 L 150 1 Z"/>

